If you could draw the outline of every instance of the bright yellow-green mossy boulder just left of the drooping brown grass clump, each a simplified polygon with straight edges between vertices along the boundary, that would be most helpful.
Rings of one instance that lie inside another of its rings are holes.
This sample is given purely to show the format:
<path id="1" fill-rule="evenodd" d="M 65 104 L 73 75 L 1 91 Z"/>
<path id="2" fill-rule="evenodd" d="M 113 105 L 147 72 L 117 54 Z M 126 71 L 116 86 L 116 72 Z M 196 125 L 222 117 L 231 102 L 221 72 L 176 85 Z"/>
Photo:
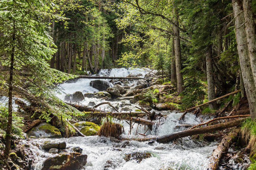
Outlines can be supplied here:
<path id="1" fill-rule="evenodd" d="M 92 122 L 78 122 L 75 123 L 74 126 L 79 128 L 80 132 L 85 136 L 93 136 L 99 131 L 99 125 L 96 125 Z"/>

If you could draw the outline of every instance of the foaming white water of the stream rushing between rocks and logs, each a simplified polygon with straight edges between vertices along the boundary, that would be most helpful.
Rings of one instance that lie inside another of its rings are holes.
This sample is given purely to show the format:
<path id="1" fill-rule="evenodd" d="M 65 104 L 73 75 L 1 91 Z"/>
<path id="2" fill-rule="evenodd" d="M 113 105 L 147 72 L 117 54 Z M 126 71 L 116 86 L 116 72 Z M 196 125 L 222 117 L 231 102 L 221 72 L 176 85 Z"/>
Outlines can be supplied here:
<path id="1" fill-rule="evenodd" d="M 126 77 L 131 73 L 141 73 L 143 74 L 141 77 L 144 78 L 144 75 L 148 72 L 143 72 L 140 69 L 112 69 L 111 71 L 102 70 L 99 74 L 111 77 Z M 98 92 L 99 90 L 90 87 L 89 83 L 92 80 L 93 79 L 78 79 L 75 82 L 64 83 L 60 85 L 60 89 L 62 91 L 61 94 L 58 93 L 56 95 L 64 100 L 66 94 L 74 93 L 76 91 L 81 91 L 82 93 Z M 138 85 L 140 81 L 144 80 L 132 80 L 126 83 L 128 83 L 130 86 L 135 86 Z M 104 101 L 105 100 L 100 100 L 97 98 L 85 98 L 83 101 L 80 101 L 80 103 L 87 106 L 89 102 L 99 104 Z M 135 105 L 129 103 L 129 100 L 110 101 L 110 103 L 114 107 L 118 107 L 119 111 L 124 107 L 128 107 L 131 111 L 135 111 L 135 109 L 137 109 Z M 102 105 L 101 108 L 105 108 L 107 110 L 113 109 L 109 105 Z M 180 124 L 194 125 L 201 123 L 202 120 L 205 122 L 211 119 L 211 117 L 196 117 L 192 113 L 188 113 L 185 116 L 185 119 L 179 123 L 177 120 L 182 113 L 178 113 L 176 111 L 163 111 L 163 114 L 167 115 L 166 119 L 162 117 L 160 120 L 155 120 L 156 124 L 152 126 L 152 130 L 148 130 L 146 125 L 138 125 L 135 123 L 131 130 L 131 135 L 128 135 L 128 132 L 130 131 L 130 126 L 128 123 L 121 121 L 121 124 L 124 125 L 125 129 L 125 134 L 123 136 L 125 138 L 142 137 L 141 135 L 138 135 L 138 133 L 145 134 L 148 137 L 163 136 L 176 131 L 185 130 L 186 128 L 179 127 Z M 135 135 L 136 132 L 137 134 Z M 43 150 L 38 150 L 37 145 L 40 145 L 47 140 L 49 139 L 41 138 L 30 139 L 29 141 L 31 144 L 30 149 L 35 153 L 35 155 L 37 155 L 35 164 L 36 170 L 42 169 L 43 161 L 45 161 L 46 158 L 57 155 L 50 154 Z M 205 169 L 207 166 L 208 157 L 217 147 L 216 142 L 207 143 L 198 140 L 191 140 L 188 137 L 178 139 L 175 143 L 169 142 L 164 144 L 158 142 L 149 144 L 149 142 L 138 142 L 132 140 L 117 143 L 112 142 L 110 138 L 98 136 L 71 137 L 54 140 L 66 142 L 67 152 L 71 152 L 71 147 L 80 147 L 83 149 L 82 154 L 88 155 L 87 163 L 84 167 L 82 167 L 83 170 Z M 24 140 L 24 143 L 26 142 L 28 141 Z M 143 159 L 140 163 L 138 163 L 136 160 L 126 161 L 124 159 L 125 155 L 133 152 L 149 152 L 151 153 L 151 157 Z"/>

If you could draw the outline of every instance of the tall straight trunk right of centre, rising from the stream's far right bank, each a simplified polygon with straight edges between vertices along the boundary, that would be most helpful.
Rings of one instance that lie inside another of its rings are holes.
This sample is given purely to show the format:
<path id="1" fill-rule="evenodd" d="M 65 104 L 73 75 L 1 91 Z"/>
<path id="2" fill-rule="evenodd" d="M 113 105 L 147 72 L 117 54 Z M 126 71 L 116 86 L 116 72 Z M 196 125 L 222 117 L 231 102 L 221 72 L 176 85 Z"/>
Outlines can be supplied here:
<path id="1" fill-rule="evenodd" d="M 177 92 L 181 93 L 183 91 L 183 77 L 181 74 L 181 51 L 180 51 L 180 41 L 179 41 L 179 16 L 177 9 L 173 7 L 173 14 L 174 17 L 174 25 L 173 25 L 173 31 L 175 34 L 174 37 L 174 50 L 175 50 L 175 64 L 176 64 L 176 75 L 177 75 Z"/>

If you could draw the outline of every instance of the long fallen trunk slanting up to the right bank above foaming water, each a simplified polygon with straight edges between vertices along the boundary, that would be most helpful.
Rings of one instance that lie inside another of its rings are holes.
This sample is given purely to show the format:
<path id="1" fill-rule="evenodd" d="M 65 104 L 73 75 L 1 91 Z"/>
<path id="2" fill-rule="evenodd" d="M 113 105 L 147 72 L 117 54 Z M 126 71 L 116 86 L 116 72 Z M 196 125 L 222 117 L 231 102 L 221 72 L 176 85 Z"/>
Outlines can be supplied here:
<path id="1" fill-rule="evenodd" d="M 172 133 L 172 134 L 160 136 L 156 139 L 156 141 L 160 142 L 160 143 L 166 143 L 166 142 L 170 142 L 174 139 L 183 138 L 183 137 L 186 137 L 186 136 L 204 134 L 204 133 L 208 133 L 208 132 L 212 132 L 212 131 L 227 129 L 227 128 L 231 128 L 231 127 L 239 125 L 244 120 L 246 120 L 246 118 L 236 119 L 236 120 L 233 120 L 233 121 L 230 121 L 230 122 L 219 123 L 219 124 L 216 124 L 216 125 L 210 125 L 210 126 L 206 126 L 206 127 L 202 127 L 202 128 L 188 129 L 188 130 L 185 130 L 185 131 L 179 131 L 179 132 L 175 132 L 175 133 Z"/>

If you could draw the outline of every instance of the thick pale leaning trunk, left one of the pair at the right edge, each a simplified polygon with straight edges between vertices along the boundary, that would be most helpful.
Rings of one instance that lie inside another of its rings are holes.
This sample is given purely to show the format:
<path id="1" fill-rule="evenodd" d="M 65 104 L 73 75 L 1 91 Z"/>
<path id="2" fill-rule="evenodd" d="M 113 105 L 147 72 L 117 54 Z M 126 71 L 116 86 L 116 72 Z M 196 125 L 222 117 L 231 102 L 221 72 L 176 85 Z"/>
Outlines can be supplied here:
<path id="1" fill-rule="evenodd" d="M 248 104 L 250 108 L 250 114 L 252 119 L 254 120 L 256 118 L 256 93 L 255 93 L 256 85 L 255 85 L 254 75 L 252 72 L 252 67 L 255 67 L 255 65 L 252 66 L 253 63 L 251 63 L 251 59 L 249 57 L 249 52 L 248 52 L 249 51 L 248 45 L 251 40 L 247 41 L 247 35 L 246 35 L 245 24 L 244 24 L 245 23 L 244 14 L 243 14 L 243 11 L 240 9 L 240 6 L 238 5 L 236 0 L 232 0 L 232 6 L 234 11 L 235 36 L 236 36 L 236 42 L 237 42 L 237 50 L 239 55 L 240 67 L 242 71 L 242 78 L 243 78 L 243 83 L 246 90 L 246 95 L 247 95 Z M 243 10 L 246 11 L 247 9 L 243 9 Z"/>

